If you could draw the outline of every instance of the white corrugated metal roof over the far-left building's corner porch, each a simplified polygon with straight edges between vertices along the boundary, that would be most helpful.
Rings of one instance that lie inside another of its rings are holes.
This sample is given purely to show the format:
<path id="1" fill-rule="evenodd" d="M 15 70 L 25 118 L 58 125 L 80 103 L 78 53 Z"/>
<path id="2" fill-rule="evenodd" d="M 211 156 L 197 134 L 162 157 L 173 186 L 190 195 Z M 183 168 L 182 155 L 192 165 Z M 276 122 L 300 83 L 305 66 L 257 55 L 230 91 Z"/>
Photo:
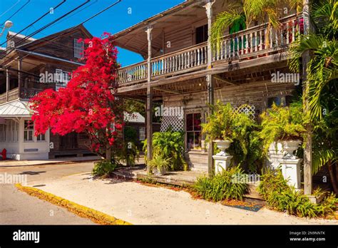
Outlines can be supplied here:
<path id="1" fill-rule="evenodd" d="M 0 117 L 30 117 L 28 102 L 14 100 L 0 105 Z"/>

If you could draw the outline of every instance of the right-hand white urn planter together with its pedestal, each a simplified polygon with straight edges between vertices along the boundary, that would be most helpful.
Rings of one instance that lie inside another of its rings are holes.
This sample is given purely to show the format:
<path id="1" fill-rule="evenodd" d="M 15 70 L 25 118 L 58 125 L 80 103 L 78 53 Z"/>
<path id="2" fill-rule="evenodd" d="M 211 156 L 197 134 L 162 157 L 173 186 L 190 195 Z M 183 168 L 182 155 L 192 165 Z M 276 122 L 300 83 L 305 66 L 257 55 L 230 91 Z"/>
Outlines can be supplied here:
<path id="1" fill-rule="evenodd" d="M 296 190 L 301 189 L 300 182 L 300 163 L 302 159 L 298 158 L 293 153 L 299 148 L 300 140 L 285 140 L 282 141 L 283 151 L 285 155 L 278 160 L 282 167 L 282 174 L 288 180 L 288 184 L 295 187 Z"/>

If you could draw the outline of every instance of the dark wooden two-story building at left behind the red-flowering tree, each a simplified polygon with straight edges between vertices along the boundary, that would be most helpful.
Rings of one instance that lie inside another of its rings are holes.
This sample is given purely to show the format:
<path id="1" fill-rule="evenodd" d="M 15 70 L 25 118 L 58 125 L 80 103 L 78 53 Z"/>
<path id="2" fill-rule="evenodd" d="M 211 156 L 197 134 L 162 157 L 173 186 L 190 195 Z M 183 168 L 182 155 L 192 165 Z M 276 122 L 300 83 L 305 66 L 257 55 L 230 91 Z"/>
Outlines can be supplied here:
<path id="1" fill-rule="evenodd" d="M 70 73 L 83 65 L 83 41 L 91 33 L 82 25 L 35 39 L 9 32 L 0 50 L 0 150 L 16 160 L 45 160 L 88 153 L 83 134 L 34 135 L 29 98 L 46 88 L 66 86 Z"/>

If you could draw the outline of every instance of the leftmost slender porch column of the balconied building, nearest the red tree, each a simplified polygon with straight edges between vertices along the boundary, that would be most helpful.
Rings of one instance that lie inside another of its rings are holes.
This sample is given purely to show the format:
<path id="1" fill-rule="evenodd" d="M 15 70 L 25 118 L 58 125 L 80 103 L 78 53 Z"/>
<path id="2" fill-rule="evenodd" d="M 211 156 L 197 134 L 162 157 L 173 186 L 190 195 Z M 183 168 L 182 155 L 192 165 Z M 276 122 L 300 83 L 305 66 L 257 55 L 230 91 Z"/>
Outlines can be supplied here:
<path id="1" fill-rule="evenodd" d="M 153 28 L 148 26 L 147 33 L 148 38 L 148 84 L 147 84 L 147 103 L 146 103 L 146 125 L 147 125 L 147 160 L 150 161 L 153 157 L 153 88 L 150 87 L 151 81 L 151 31 Z M 149 167 L 148 167 L 149 170 Z"/>

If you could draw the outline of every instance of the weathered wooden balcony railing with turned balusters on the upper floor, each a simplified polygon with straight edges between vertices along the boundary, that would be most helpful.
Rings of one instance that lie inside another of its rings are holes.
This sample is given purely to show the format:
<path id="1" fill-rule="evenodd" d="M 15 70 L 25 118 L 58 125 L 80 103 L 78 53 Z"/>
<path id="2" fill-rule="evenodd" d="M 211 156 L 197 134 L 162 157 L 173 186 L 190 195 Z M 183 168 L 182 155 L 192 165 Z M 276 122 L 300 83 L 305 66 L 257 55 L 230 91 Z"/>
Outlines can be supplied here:
<path id="1" fill-rule="evenodd" d="M 301 16 L 301 15 L 299 15 Z M 212 49 L 212 63 L 254 58 L 262 54 L 285 51 L 302 33 L 302 17 L 297 15 L 280 19 L 280 29 L 272 29 L 267 24 L 254 26 L 244 31 L 224 36 L 220 46 Z M 173 76 L 206 68 L 208 63 L 208 43 L 183 48 L 150 60 L 151 77 Z M 121 87 L 147 81 L 148 63 L 143 61 L 118 70 L 118 85 Z"/>

